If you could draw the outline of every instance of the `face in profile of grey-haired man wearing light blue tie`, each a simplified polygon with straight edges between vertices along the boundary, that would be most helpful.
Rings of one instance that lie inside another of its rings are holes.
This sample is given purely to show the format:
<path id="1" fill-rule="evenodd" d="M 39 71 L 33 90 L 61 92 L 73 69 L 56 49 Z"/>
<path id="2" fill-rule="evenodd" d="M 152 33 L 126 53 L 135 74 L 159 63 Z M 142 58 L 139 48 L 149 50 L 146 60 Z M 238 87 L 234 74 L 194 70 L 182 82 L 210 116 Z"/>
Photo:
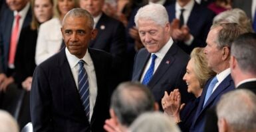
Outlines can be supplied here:
<path id="1" fill-rule="evenodd" d="M 219 73 L 219 65 L 221 64 L 221 49 L 217 46 L 217 35 L 221 27 L 213 28 L 209 31 L 206 39 L 207 46 L 205 46 L 203 53 L 207 59 L 207 66 Z"/>

